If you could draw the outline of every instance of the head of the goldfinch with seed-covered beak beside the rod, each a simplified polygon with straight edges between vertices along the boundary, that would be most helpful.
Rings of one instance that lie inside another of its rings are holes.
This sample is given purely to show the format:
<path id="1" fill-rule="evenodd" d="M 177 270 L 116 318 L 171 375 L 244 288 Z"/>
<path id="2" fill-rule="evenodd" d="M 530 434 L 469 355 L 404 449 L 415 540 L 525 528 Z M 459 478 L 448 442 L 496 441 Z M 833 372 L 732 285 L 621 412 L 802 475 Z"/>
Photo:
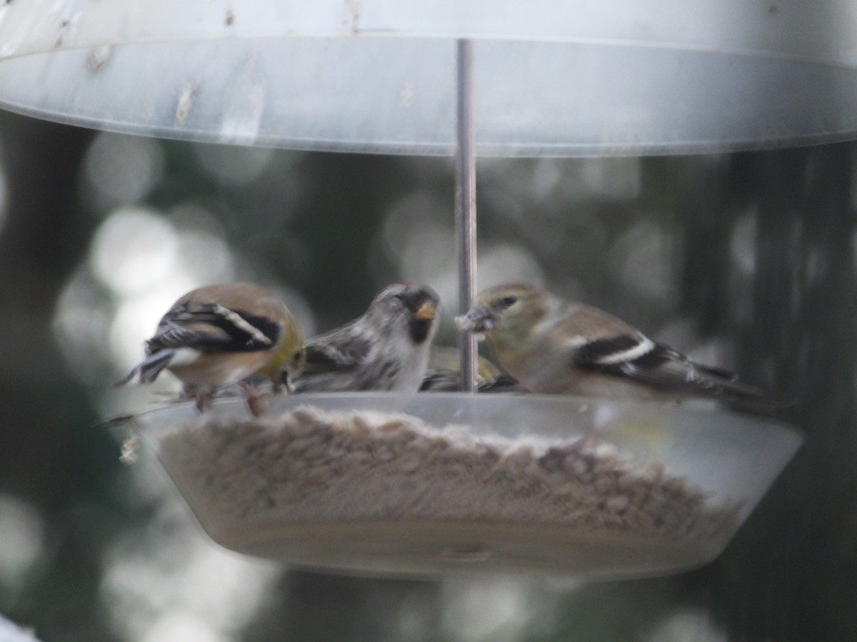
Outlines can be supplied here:
<path id="1" fill-rule="evenodd" d="M 470 311 L 455 322 L 460 330 L 492 340 L 516 341 L 548 313 L 549 295 L 526 283 L 506 283 L 483 290 Z"/>

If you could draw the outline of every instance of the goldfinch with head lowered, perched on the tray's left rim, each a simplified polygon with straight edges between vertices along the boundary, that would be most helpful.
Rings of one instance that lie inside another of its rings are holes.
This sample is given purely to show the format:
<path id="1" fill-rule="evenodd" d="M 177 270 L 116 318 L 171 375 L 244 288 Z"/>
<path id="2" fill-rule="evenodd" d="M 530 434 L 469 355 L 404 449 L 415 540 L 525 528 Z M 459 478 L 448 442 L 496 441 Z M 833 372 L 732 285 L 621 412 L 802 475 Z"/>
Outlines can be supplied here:
<path id="1" fill-rule="evenodd" d="M 241 383 L 258 414 L 261 392 L 242 379 L 257 373 L 279 389 L 302 367 L 303 336 L 285 303 L 253 283 L 218 283 L 171 306 L 146 342 L 146 358 L 117 385 L 152 383 L 166 369 L 202 410 L 217 389 Z"/>

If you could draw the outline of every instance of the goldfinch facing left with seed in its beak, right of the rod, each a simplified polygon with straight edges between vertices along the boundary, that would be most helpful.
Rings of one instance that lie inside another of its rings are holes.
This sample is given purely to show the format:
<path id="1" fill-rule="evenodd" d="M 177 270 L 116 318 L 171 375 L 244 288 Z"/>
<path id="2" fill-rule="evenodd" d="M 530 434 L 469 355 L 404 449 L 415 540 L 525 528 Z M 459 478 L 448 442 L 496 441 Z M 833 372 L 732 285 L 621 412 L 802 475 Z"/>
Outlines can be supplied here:
<path id="1" fill-rule="evenodd" d="M 652 341 L 608 312 L 532 285 L 488 288 L 456 322 L 487 336 L 500 366 L 530 392 L 663 401 L 767 396 L 731 372 L 694 363 Z"/>

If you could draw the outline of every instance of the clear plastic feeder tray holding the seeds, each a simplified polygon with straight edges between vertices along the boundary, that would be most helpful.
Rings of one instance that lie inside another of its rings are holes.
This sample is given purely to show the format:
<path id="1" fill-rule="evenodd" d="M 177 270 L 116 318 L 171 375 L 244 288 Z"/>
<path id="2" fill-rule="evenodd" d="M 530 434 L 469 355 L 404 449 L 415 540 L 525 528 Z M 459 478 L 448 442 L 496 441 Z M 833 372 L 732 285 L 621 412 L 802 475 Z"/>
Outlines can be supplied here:
<path id="1" fill-rule="evenodd" d="M 541 395 L 285 395 L 137 418 L 219 544 L 306 568 L 669 574 L 714 559 L 800 446 L 786 425 Z"/>

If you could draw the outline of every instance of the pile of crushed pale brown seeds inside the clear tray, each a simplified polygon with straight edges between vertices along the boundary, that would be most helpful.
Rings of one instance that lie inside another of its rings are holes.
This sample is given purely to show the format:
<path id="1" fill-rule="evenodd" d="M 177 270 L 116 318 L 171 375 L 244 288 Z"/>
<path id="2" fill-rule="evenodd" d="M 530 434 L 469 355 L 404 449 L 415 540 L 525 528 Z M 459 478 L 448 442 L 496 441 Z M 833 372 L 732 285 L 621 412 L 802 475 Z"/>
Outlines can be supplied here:
<path id="1" fill-rule="evenodd" d="M 202 418 L 159 455 L 204 522 L 509 520 L 706 545 L 728 538 L 740 510 L 609 443 L 476 437 L 406 414 Z"/>

